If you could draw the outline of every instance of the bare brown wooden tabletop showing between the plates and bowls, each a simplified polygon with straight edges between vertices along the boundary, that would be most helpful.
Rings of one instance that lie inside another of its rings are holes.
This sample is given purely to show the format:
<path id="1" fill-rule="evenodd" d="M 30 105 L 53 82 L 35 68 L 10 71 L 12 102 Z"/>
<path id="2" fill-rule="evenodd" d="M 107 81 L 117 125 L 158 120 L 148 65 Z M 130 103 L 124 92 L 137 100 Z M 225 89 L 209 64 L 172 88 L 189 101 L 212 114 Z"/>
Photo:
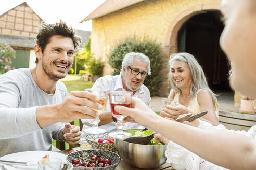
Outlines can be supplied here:
<path id="1" fill-rule="evenodd" d="M 62 153 L 62 154 L 66 154 L 68 155 L 68 152 L 70 150 L 79 150 L 80 148 L 73 148 L 73 149 L 69 149 L 69 150 L 61 150 L 61 151 L 57 151 L 59 153 Z M 123 159 L 121 159 L 120 163 L 118 164 L 118 166 L 116 167 L 117 170 L 139 170 L 140 168 L 137 168 L 137 167 L 134 167 L 134 166 L 131 166 L 129 164 L 127 164 L 126 162 L 124 162 Z M 159 166 L 158 168 L 154 168 L 152 170 L 170 170 L 170 169 L 173 169 L 171 167 L 171 164 L 170 163 L 165 163 L 163 164 L 162 166 Z"/>

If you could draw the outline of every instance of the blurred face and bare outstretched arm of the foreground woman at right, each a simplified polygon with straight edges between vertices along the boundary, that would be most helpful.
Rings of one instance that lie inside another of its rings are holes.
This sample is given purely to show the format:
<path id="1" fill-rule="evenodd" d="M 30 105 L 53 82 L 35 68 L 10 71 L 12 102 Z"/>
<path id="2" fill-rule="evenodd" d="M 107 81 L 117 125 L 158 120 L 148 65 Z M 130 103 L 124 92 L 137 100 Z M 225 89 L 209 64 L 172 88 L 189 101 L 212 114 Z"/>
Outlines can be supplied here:
<path id="1" fill-rule="evenodd" d="M 234 68 L 231 86 L 242 95 L 256 98 L 256 1 L 223 0 L 220 8 L 226 21 L 220 44 Z M 137 98 L 132 107 L 114 109 L 211 163 L 228 169 L 256 169 L 255 134 L 250 138 L 170 121 Z"/>

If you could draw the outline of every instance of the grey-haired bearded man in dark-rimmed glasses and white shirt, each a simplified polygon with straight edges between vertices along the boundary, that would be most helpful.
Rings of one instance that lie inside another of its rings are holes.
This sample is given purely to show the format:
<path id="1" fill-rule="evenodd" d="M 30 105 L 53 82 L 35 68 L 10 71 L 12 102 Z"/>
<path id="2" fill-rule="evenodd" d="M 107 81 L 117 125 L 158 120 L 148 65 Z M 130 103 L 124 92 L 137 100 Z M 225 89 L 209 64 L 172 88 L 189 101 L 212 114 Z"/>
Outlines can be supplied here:
<path id="1" fill-rule="evenodd" d="M 150 96 L 148 88 L 143 84 L 147 75 L 150 75 L 150 60 L 143 53 L 127 53 L 122 61 L 122 70 L 119 75 L 106 75 L 100 77 L 94 83 L 92 89 L 106 89 L 110 91 L 131 91 L 133 96 L 138 94 L 145 94 Z M 117 127 L 112 119 L 110 104 L 106 105 L 106 112 L 99 115 L 100 128 L 107 130 L 107 132 L 116 132 Z M 82 119 L 84 124 L 83 130 L 91 127 L 91 120 Z M 133 129 L 142 127 L 138 123 L 127 122 L 124 129 Z M 81 140 L 86 141 L 87 133 L 82 131 Z"/>

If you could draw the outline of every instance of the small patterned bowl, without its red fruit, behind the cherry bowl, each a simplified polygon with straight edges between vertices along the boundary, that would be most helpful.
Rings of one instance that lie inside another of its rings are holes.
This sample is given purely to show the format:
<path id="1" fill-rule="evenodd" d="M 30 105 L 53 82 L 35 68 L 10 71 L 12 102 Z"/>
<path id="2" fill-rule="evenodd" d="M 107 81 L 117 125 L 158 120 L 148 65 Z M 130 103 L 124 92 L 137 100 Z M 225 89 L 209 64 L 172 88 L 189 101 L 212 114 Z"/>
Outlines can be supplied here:
<path id="1" fill-rule="evenodd" d="M 106 143 L 98 143 L 93 140 L 97 140 L 99 138 L 110 138 L 108 136 L 108 133 L 100 133 L 100 134 L 88 134 L 86 137 L 86 140 L 88 144 L 92 145 L 92 149 L 103 149 L 103 150 L 109 150 L 109 151 L 116 151 L 116 147 L 114 147 L 114 143 L 106 144 Z"/>

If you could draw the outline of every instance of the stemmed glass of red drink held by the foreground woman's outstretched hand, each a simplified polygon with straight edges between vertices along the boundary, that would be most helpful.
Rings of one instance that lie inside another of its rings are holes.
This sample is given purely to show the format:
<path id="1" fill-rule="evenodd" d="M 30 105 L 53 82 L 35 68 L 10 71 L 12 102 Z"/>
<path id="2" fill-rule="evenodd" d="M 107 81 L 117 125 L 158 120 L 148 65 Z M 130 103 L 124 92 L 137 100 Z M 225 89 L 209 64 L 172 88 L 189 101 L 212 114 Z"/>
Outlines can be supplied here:
<path id="1" fill-rule="evenodd" d="M 133 96 L 133 92 L 123 92 L 123 91 L 112 91 L 108 92 L 109 103 L 111 106 L 112 116 L 117 118 L 117 132 L 109 133 L 108 135 L 112 138 L 125 139 L 127 137 L 131 137 L 131 133 L 123 132 L 124 122 L 123 119 L 127 117 L 127 115 L 121 115 L 118 112 L 114 111 L 115 106 L 125 106 L 131 107 L 131 99 Z"/>

